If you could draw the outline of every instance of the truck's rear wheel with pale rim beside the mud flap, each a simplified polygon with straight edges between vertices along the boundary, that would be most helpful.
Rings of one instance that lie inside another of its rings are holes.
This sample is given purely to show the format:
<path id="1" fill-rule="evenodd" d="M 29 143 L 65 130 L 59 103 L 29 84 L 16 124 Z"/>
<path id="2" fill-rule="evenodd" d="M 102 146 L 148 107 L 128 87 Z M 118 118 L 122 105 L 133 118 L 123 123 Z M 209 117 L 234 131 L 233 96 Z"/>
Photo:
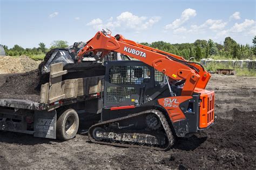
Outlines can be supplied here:
<path id="1" fill-rule="evenodd" d="M 78 131 L 78 114 L 72 108 L 57 114 L 56 136 L 60 140 L 70 140 Z"/>

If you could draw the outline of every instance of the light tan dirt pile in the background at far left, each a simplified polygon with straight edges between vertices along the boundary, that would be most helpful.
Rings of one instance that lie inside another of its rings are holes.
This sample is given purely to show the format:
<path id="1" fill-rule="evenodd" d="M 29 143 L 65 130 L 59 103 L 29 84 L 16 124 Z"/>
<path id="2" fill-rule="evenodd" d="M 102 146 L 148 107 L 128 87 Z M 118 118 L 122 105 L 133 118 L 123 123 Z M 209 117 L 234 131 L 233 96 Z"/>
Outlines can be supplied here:
<path id="1" fill-rule="evenodd" d="M 27 56 L 3 56 L 0 57 L 0 74 L 28 72 L 37 69 L 38 64 Z"/>

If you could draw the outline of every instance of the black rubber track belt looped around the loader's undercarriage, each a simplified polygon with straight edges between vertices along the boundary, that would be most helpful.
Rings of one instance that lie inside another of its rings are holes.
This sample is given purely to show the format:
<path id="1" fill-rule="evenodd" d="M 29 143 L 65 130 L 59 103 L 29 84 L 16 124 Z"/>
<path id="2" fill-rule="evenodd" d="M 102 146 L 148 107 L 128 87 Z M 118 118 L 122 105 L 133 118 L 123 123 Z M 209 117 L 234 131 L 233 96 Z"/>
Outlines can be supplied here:
<path id="1" fill-rule="evenodd" d="M 164 127 L 164 130 L 165 130 L 165 133 L 167 135 L 167 139 L 168 139 L 168 145 L 165 147 L 165 148 L 161 148 L 161 147 L 155 147 L 155 146 L 141 146 L 141 145 L 132 145 L 132 144 L 122 144 L 122 143 L 116 143 L 116 142 L 104 142 L 104 141 L 97 141 L 95 139 L 93 139 L 92 137 L 92 132 L 93 132 L 93 129 L 95 127 L 101 127 L 103 125 L 107 125 L 107 124 L 110 124 L 110 123 L 113 123 L 115 121 L 120 121 L 120 120 L 124 120 L 124 119 L 129 119 L 129 118 L 132 118 L 132 117 L 137 117 L 139 115 L 143 115 L 143 114 L 148 114 L 148 113 L 154 113 L 158 116 L 158 118 L 160 119 L 161 121 L 161 124 L 163 125 Z M 117 119 L 112 119 L 112 120 L 107 120 L 107 121 L 103 121 L 101 123 L 98 123 L 98 124 L 95 124 L 95 125 L 92 125 L 90 128 L 89 128 L 89 131 L 88 131 L 88 135 L 89 135 L 89 139 L 96 143 L 96 144 L 103 144 L 103 145 L 112 145 L 112 146 L 118 146 L 118 147 L 142 147 L 142 148 L 151 148 L 151 149 L 156 149 L 158 151 L 166 151 L 166 150 L 169 150 L 172 145 L 174 144 L 174 138 L 173 138 L 173 135 L 172 135 L 172 131 L 171 131 L 171 128 L 164 116 L 163 113 L 161 113 L 160 111 L 158 110 L 147 110 L 147 111 L 143 111 L 143 112 L 139 112 L 139 113 L 134 113 L 132 115 L 127 115 L 126 117 L 122 117 L 122 118 L 117 118 Z"/>

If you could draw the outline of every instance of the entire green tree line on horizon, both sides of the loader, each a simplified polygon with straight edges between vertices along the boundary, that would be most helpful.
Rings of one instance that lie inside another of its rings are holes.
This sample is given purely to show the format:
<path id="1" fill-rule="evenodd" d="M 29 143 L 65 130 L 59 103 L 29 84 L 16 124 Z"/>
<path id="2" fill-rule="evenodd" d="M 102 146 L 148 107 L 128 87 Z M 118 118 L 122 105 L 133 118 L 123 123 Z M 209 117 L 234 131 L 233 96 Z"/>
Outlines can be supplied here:
<path id="1" fill-rule="evenodd" d="M 201 40 L 197 39 L 194 43 L 182 43 L 182 44 L 170 44 L 163 41 L 153 43 L 140 43 L 146 46 L 150 46 L 162 51 L 170 52 L 178 56 L 182 56 L 185 59 L 200 60 L 202 58 L 210 58 L 214 56 L 220 56 L 221 58 L 230 59 L 255 59 L 256 57 L 256 36 L 252 40 L 253 46 L 248 44 L 242 45 L 235 42 L 231 37 L 226 37 L 224 44 L 218 44 L 213 42 L 212 39 Z M 11 49 L 8 46 L 3 45 L 6 55 L 8 56 L 32 56 L 42 55 L 51 49 L 56 47 L 68 47 L 68 42 L 64 40 L 56 40 L 51 43 L 51 47 L 46 48 L 44 43 L 39 43 L 38 47 L 32 49 L 19 45 L 14 45 Z"/>

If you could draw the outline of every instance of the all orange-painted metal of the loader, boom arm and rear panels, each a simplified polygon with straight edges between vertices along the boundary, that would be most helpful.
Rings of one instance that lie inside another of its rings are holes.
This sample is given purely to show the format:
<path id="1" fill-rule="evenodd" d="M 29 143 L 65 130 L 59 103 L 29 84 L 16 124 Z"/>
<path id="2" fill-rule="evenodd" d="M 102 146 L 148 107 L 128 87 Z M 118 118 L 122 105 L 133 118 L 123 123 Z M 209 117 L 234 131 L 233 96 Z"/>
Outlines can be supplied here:
<path id="1" fill-rule="evenodd" d="M 101 31 L 97 32 L 96 35 L 86 43 L 85 47 L 78 52 L 78 61 L 88 52 L 95 54 L 102 52 L 100 57 L 103 58 L 107 53 L 112 51 L 136 58 L 154 67 L 154 69 L 163 72 L 170 80 L 185 80 L 181 96 L 158 99 L 158 103 L 166 109 L 173 123 L 186 119 L 184 113 L 179 108 L 179 103 L 191 99 L 194 92 L 200 93 L 201 100 L 199 128 L 206 128 L 213 123 L 214 92 L 204 90 L 211 74 L 205 71 L 201 65 L 188 62 L 183 57 L 173 55 L 172 53 L 153 49 L 149 46 L 133 42 L 132 40 L 127 40 L 122 35 L 113 37 L 111 35 L 105 35 Z M 180 63 L 180 61 L 186 62 L 186 64 Z M 167 99 L 169 99 L 169 103 L 164 101 L 167 101 Z M 173 101 L 173 103 L 171 101 Z M 168 104 L 166 105 L 166 103 Z M 112 108 L 112 110 L 114 109 L 115 108 Z"/>

